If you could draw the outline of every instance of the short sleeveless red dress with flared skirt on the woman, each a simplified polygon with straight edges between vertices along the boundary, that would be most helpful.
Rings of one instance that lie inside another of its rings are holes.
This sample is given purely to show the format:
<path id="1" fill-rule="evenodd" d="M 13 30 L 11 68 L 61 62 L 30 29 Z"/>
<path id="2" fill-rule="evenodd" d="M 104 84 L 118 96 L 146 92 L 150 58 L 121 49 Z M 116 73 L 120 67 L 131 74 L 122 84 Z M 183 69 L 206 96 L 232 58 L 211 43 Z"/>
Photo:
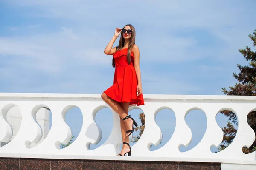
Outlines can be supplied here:
<path id="1" fill-rule="evenodd" d="M 117 102 L 144 105 L 143 95 L 137 96 L 138 80 L 134 69 L 134 54 L 131 51 L 131 64 L 129 65 L 126 59 L 127 52 L 128 48 L 124 48 L 113 54 L 115 59 L 114 84 L 104 93 Z"/>

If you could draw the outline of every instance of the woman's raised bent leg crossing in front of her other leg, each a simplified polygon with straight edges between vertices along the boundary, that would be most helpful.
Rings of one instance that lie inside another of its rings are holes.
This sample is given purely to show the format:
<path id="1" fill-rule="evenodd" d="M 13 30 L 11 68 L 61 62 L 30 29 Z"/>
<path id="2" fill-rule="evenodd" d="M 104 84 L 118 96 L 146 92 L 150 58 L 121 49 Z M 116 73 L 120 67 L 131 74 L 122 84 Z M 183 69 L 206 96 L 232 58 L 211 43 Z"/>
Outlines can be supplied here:
<path id="1" fill-rule="evenodd" d="M 117 114 L 119 114 L 122 119 L 128 116 L 128 113 L 125 112 L 121 105 L 115 100 L 111 99 L 107 94 L 103 92 L 101 97 L 102 100 L 104 100 L 104 102 L 106 102 Z M 126 130 L 132 130 L 133 121 L 131 119 L 125 119 L 123 122 L 125 123 Z M 130 133 L 131 132 L 126 133 L 126 135 L 128 136 Z"/>

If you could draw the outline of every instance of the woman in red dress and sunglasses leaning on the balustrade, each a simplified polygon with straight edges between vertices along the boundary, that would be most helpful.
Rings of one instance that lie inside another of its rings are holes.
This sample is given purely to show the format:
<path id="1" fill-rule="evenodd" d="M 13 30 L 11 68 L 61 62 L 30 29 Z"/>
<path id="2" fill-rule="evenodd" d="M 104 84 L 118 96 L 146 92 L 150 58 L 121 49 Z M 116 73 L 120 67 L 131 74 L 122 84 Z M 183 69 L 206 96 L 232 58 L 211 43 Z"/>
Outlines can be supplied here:
<path id="1" fill-rule="evenodd" d="M 121 34 L 118 47 L 113 48 L 117 37 Z M 113 55 L 112 66 L 115 67 L 114 84 L 102 93 L 102 99 L 120 116 L 123 147 L 118 156 L 131 156 L 129 137 L 138 126 L 128 116 L 129 105 L 144 105 L 140 78 L 140 51 L 135 45 L 135 29 L 128 24 L 124 28 L 116 28 L 112 40 L 104 50 Z"/>

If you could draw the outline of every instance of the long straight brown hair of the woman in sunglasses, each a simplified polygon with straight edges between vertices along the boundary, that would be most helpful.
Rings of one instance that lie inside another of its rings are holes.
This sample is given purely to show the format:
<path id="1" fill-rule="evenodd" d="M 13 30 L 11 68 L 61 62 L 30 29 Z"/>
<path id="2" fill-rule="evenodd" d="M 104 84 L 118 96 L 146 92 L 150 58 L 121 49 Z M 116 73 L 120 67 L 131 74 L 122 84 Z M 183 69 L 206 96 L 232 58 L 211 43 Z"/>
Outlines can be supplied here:
<path id="1" fill-rule="evenodd" d="M 127 52 L 127 56 L 126 56 L 128 64 L 131 64 L 131 50 L 132 50 L 132 48 L 133 48 L 133 46 L 135 44 L 136 32 L 135 32 L 134 26 L 132 26 L 131 24 L 127 24 L 125 26 L 129 26 L 131 28 L 131 30 L 132 30 L 131 38 L 130 38 L 129 44 L 128 44 L 128 52 Z M 125 28 L 125 26 L 123 28 Z M 121 50 L 124 47 L 124 45 L 125 45 L 125 39 L 122 36 L 122 32 L 121 32 L 121 37 L 120 37 L 120 40 L 119 40 L 119 45 L 118 45 L 116 51 Z M 114 59 L 114 57 L 112 59 L 112 66 L 115 67 L 115 59 Z"/>

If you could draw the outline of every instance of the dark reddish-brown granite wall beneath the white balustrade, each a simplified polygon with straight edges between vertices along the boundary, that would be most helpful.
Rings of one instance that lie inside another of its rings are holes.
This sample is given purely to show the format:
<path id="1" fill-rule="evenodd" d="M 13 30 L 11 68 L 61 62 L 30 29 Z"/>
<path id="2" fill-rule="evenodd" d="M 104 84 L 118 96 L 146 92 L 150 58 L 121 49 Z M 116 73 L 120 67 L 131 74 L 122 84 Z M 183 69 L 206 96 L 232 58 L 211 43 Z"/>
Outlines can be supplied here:
<path id="1" fill-rule="evenodd" d="M 220 170 L 221 163 L 0 158 L 0 170 Z"/>

